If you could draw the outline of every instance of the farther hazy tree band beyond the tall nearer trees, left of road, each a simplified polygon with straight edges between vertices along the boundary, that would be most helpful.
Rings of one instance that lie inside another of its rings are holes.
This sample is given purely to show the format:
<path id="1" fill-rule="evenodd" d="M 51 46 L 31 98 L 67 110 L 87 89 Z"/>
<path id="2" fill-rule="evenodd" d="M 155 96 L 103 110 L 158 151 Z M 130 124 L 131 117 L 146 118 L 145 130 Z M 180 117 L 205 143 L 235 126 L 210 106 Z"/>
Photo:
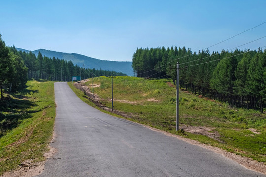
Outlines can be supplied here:
<path id="1" fill-rule="evenodd" d="M 36 57 L 31 51 L 29 53 L 17 51 L 15 47 L 10 47 L 10 50 L 19 55 L 26 67 L 28 68 L 28 78 L 46 79 L 50 81 L 71 81 L 72 76 L 81 76 L 81 79 L 98 76 L 121 75 L 115 71 L 96 70 L 90 68 L 83 68 L 72 63 L 58 58 L 49 58 L 42 56 L 39 52 Z M 84 78 L 85 77 L 85 78 Z"/>

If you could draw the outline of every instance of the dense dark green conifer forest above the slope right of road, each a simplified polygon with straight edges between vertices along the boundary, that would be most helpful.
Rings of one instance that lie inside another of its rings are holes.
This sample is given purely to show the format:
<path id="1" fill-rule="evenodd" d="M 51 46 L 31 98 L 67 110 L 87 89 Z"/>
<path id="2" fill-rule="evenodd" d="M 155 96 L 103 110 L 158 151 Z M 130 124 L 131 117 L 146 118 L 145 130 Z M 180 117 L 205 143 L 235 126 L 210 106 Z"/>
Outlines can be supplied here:
<path id="1" fill-rule="evenodd" d="M 190 48 L 138 48 L 132 67 L 137 77 L 167 77 L 176 82 L 175 65 L 180 63 L 180 86 L 199 95 L 219 99 L 231 105 L 266 107 L 266 50 L 208 50 L 192 52 Z M 204 64 L 202 64 L 204 63 Z"/>

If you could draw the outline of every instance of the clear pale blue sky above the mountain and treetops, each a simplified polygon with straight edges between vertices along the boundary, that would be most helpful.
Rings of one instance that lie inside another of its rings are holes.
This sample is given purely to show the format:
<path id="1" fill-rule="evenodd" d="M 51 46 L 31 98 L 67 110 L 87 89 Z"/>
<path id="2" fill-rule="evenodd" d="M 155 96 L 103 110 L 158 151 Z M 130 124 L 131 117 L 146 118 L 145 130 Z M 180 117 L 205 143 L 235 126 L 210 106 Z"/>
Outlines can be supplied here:
<path id="1" fill-rule="evenodd" d="M 4 0 L 0 33 L 6 45 L 131 61 L 137 48 L 199 51 L 266 22 L 266 0 Z M 266 23 L 210 51 L 266 36 Z M 239 47 L 266 46 L 266 37 Z"/>

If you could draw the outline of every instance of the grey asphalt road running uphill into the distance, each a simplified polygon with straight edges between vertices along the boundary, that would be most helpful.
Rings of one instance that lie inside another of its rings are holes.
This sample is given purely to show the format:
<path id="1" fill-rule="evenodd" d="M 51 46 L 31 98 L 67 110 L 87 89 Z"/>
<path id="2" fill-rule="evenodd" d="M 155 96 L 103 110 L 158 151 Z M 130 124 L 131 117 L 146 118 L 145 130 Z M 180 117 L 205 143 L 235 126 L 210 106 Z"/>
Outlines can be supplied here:
<path id="1" fill-rule="evenodd" d="M 58 152 L 38 177 L 266 177 L 205 148 L 110 116 L 55 83 Z"/>

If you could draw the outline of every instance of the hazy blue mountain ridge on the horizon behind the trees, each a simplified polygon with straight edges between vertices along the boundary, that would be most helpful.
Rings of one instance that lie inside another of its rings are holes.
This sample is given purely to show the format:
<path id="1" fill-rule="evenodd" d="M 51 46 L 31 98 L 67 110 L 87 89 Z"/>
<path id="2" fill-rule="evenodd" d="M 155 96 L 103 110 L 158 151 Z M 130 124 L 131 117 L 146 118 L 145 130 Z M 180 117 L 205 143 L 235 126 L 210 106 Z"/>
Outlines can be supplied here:
<path id="1" fill-rule="evenodd" d="M 18 51 L 22 52 L 30 52 L 29 50 L 16 48 Z M 56 52 L 56 51 L 50 51 L 45 49 L 38 49 L 32 51 L 36 56 L 38 56 L 38 53 L 41 53 L 43 56 L 49 57 L 49 58 L 58 58 L 58 59 L 64 59 L 67 61 L 72 61 L 74 65 L 78 65 L 80 67 L 83 67 L 83 64 L 85 64 L 85 68 L 90 69 L 102 69 L 102 70 L 109 70 L 109 71 L 116 71 L 116 72 L 122 72 L 127 74 L 128 76 L 133 76 L 133 68 L 131 67 L 132 62 L 129 61 L 104 61 L 100 59 L 91 58 L 88 56 L 75 54 L 75 53 L 64 53 L 64 52 Z"/>

